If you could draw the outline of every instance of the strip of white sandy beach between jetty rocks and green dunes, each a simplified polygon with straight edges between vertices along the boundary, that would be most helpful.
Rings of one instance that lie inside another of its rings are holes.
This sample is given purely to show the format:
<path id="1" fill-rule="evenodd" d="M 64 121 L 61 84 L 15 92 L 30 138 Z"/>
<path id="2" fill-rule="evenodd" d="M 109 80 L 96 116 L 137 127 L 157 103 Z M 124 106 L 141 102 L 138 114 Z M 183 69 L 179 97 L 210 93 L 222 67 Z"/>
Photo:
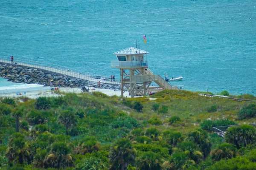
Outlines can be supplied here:
<path id="1" fill-rule="evenodd" d="M 80 88 L 60 88 L 60 92 L 64 93 L 82 93 Z M 108 96 L 121 96 L 121 91 L 114 91 L 111 89 L 98 89 L 98 88 L 90 88 L 89 93 L 93 91 L 99 91 L 104 94 L 107 94 Z M 29 91 L 24 94 L 24 92 L 20 92 L 21 95 L 16 95 L 16 93 L 6 93 L 6 94 L 0 94 L 0 97 L 29 97 L 30 99 L 36 99 L 38 97 L 52 97 L 52 96 L 60 96 L 60 94 L 55 93 L 55 91 L 52 91 L 50 89 L 45 90 L 38 90 L 38 91 Z M 131 97 L 129 96 L 128 92 L 125 92 L 124 97 Z"/>

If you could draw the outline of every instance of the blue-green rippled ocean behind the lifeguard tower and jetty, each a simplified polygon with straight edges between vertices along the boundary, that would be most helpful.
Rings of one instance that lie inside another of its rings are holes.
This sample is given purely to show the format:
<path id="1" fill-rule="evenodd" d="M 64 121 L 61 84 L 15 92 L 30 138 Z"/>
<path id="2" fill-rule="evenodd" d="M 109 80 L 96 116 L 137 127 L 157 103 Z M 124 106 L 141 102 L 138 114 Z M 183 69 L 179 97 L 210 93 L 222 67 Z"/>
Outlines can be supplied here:
<path id="1" fill-rule="evenodd" d="M 113 53 L 137 40 L 154 74 L 184 76 L 174 85 L 256 95 L 255 0 L 1 0 L 0 6 L 0 58 L 118 78 Z"/>

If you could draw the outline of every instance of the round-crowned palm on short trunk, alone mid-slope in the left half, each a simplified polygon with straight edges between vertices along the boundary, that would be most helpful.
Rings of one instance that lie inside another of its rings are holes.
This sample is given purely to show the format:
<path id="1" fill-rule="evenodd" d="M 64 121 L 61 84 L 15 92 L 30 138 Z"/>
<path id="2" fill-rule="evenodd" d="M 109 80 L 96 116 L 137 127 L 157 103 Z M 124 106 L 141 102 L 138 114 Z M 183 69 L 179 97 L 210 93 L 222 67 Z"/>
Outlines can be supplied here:
<path id="1" fill-rule="evenodd" d="M 71 126 L 75 126 L 77 123 L 77 116 L 73 111 L 64 111 L 58 116 L 58 122 L 63 123 L 66 127 L 66 133 L 68 135 L 68 129 Z"/>

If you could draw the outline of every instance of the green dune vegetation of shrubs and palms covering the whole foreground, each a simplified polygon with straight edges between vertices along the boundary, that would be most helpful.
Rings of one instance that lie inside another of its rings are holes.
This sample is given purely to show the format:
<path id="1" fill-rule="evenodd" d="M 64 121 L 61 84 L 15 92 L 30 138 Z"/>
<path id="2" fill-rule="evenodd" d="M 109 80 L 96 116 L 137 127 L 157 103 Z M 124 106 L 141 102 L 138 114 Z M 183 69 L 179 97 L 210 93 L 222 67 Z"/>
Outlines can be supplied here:
<path id="1" fill-rule="evenodd" d="M 229 170 L 256 167 L 256 105 L 164 90 L 134 99 L 0 99 L 3 170 Z M 252 95 L 234 96 L 255 99 Z"/>

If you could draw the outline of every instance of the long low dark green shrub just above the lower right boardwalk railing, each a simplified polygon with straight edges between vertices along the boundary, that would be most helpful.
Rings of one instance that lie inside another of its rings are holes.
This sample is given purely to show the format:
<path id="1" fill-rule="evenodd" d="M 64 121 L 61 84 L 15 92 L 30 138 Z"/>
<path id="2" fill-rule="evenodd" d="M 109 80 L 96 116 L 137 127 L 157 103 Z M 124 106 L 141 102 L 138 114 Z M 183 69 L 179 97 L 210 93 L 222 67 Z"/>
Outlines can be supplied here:
<path id="1" fill-rule="evenodd" d="M 212 131 L 212 127 L 218 126 L 228 126 L 228 125 L 237 125 L 236 122 L 233 122 L 229 119 L 221 119 L 221 120 L 204 120 L 200 123 L 200 127 L 204 130 Z"/>

